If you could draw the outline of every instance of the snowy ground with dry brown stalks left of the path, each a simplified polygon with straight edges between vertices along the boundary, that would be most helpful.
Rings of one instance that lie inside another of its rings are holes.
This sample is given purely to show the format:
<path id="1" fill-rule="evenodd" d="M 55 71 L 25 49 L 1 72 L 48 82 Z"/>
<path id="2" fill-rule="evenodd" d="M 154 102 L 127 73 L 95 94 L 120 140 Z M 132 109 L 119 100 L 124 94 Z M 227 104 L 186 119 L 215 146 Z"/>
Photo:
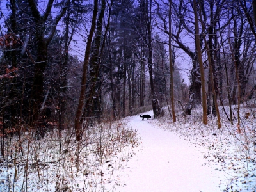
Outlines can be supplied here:
<path id="1" fill-rule="evenodd" d="M 104 191 L 105 184 L 109 188 L 118 185 L 111 172 L 132 156 L 139 140 L 136 131 L 122 121 L 89 127 L 79 142 L 74 130 L 61 131 L 61 137 L 52 130 L 39 140 L 35 134 L 23 132 L 20 138 L 6 139 L 6 158 L 0 159 L 0 189 Z"/>

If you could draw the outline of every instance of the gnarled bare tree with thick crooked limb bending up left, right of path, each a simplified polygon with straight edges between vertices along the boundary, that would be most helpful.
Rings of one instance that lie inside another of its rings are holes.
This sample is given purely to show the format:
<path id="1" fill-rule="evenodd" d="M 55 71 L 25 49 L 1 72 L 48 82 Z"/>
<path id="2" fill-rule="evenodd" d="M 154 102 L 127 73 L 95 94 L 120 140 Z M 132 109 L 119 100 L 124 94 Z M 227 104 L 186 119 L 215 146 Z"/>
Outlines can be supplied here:
<path id="1" fill-rule="evenodd" d="M 161 5 L 154 1 L 157 6 L 157 15 L 159 16 L 159 21 L 157 21 L 157 27 L 163 31 L 166 35 L 169 35 L 170 29 L 168 20 L 168 15 L 165 13 L 168 13 L 168 10 L 161 12 L 163 8 L 161 8 Z M 193 106 L 197 104 L 201 104 L 201 81 L 200 81 L 200 70 L 199 70 L 199 64 L 198 64 L 198 56 L 193 49 L 196 49 L 196 47 L 189 47 L 186 45 L 186 42 L 183 42 L 182 40 L 182 34 L 186 33 L 189 34 L 189 36 L 195 36 L 195 33 L 193 31 L 194 23 L 191 22 L 193 18 L 191 17 L 191 8 L 189 7 L 189 4 L 191 2 L 184 2 L 183 0 L 180 1 L 172 1 L 172 20 L 175 20 L 173 22 L 173 25 L 175 26 L 175 30 L 171 33 L 171 38 L 175 42 L 175 45 L 173 47 L 176 47 L 177 49 L 182 49 L 186 54 L 188 54 L 189 58 L 191 58 L 192 61 L 192 68 L 191 68 L 191 76 L 190 76 L 190 88 L 189 88 L 189 97 L 190 101 L 188 104 L 186 104 L 186 109 L 184 109 L 185 115 L 190 115 L 191 110 Z M 169 3 L 170 4 L 170 3 Z M 163 6 L 167 6 L 169 8 L 169 4 L 163 3 Z M 196 44 L 195 44 L 196 45 Z"/>

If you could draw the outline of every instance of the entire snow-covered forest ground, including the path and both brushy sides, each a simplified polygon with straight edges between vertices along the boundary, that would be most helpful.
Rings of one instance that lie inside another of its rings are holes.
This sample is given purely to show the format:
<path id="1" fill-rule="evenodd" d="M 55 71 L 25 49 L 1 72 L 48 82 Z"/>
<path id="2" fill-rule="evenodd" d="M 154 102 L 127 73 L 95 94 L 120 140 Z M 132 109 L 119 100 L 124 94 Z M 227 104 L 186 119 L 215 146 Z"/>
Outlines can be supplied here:
<path id="1" fill-rule="evenodd" d="M 253 115 L 243 117 L 241 133 L 224 113 L 221 129 L 216 118 L 208 125 L 201 119 L 196 109 L 186 118 L 178 114 L 174 124 L 167 112 L 144 121 L 130 116 L 88 129 L 80 143 L 63 132 L 62 150 L 56 132 L 40 142 L 24 134 L 26 156 L 14 139 L 7 143 L 0 191 L 256 191 Z"/>

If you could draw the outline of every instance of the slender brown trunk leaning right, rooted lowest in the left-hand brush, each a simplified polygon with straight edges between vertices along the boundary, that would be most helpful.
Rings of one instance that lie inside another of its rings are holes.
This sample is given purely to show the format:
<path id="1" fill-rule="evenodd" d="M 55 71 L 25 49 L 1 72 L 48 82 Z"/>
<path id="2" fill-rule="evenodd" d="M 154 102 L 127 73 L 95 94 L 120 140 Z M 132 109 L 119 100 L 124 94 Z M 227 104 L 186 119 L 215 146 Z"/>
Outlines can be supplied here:
<path id="1" fill-rule="evenodd" d="M 81 116 L 83 113 L 84 96 L 86 92 L 86 79 L 87 79 L 86 75 L 88 70 L 93 33 L 95 31 L 95 26 L 96 26 L 97 12 L 98 12 L 98 1 L 94 0 L 92 25 L 90 28 L 90 33 L 88 35 L 88 40 L 86 44 L 84 64 L 83 64 L 83 74 L 82 74 L 82 81 L 81 81 L 81 90 L 80 90 L 79 102 L 77 105 L 76 118 L 75 118 L 75 131 L 76 131 L 77 141 L 81 140 L 81 125 L 82 125 Z"/>

